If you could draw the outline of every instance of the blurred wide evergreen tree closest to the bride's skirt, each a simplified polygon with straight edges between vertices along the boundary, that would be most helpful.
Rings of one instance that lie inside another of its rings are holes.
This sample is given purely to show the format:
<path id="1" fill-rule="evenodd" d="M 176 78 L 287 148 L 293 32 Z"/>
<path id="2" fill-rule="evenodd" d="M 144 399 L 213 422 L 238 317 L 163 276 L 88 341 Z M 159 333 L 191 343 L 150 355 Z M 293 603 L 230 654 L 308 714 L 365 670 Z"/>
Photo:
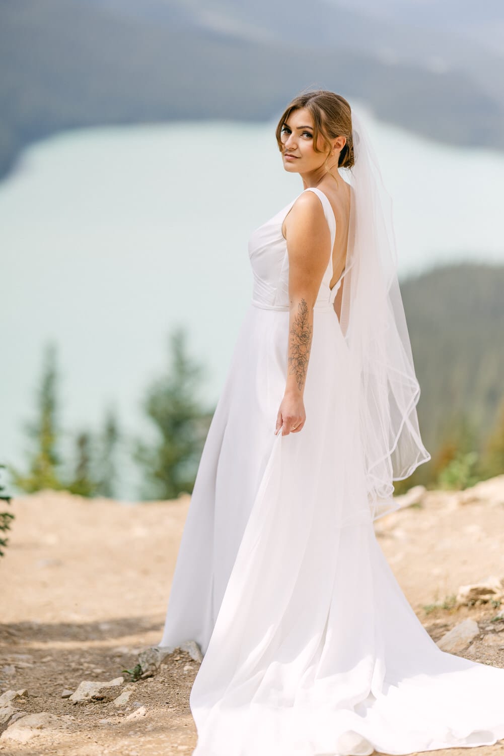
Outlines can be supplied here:
<path id="1" fill-rule="evenodd" d="M 159 437 L 155 445 L 137 442 L 135 460 L 144 472 L 144 498 L 172 499 L 193 491 L 199 457 L 212 414 L 197 398 L 203 367 L 187 356 L 186 334 L 170 336 L 171 370 L 147 391 L 144 410 Z"/>

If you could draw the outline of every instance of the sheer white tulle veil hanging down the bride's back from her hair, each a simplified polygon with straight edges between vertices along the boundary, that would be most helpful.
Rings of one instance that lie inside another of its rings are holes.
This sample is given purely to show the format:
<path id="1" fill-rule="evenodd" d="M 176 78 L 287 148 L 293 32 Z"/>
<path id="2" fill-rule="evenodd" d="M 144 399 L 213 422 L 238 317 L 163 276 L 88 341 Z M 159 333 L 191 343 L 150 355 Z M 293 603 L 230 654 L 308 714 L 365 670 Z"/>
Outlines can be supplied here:
<path id="1" fill-rule="evenodd" d="M 410 336 L 397 280 L 392 202 L 362 118 L 352 110 L 353 187 L 340 323 L 358 381 L 359 426 L 373 519 L 398 508 L 393 480 L 431 459 L 419 432 Z"/>

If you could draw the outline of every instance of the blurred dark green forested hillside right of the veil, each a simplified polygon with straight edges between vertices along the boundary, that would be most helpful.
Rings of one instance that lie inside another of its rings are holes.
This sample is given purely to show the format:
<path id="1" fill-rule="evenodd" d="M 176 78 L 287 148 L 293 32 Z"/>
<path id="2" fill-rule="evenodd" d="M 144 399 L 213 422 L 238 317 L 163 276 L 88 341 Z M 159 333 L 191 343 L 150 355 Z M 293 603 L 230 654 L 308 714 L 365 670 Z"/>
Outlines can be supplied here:
<path id="1" fill-rule="evenodd" d="M 504 398 L 504 266 L 434 268 L 400 284 L 432 456 L 462 429 L 484 443 Z"/>

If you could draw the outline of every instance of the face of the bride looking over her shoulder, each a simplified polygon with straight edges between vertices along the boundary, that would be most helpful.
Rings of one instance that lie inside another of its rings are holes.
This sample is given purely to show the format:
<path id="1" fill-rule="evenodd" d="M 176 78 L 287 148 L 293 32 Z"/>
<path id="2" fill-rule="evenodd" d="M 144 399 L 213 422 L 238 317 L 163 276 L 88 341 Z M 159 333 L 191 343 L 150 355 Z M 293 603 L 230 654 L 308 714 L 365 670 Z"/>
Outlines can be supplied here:
<path id="1" fill-rule="evenodd" d="M 315 152 L 314 150 L 313 123 L 310 111 L 304 107 L 294 110 L 290 113 L 289 118 L 283 122 L 280 140 L 283 145 L 283 167 L 286 171 L 307 174 L 317 171 L 326 162 L 327 147 L 320 134 L 318 135 L 317 150 L 325 151 Z M 329 169 L 333 167 L 332 163 L 334 163 L 334 166 L 338 166 L 339 151 L 342 150 L 345 141 L 345 137 L 338 137 L 333 140 L 336 151 L 334 160 L 329 160 L 327 163 Z"/>

